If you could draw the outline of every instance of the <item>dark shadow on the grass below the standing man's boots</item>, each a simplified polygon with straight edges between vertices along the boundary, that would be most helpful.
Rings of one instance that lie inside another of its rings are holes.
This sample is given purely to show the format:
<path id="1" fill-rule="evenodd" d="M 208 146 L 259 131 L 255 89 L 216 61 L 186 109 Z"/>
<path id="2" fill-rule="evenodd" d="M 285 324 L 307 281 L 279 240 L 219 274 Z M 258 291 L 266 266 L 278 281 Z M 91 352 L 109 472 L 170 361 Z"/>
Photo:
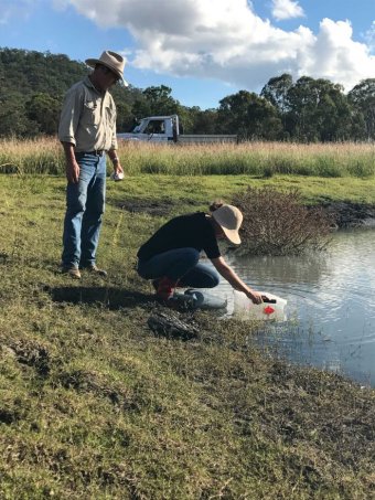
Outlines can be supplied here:
<path id="1" fill-rule="evenodd" d="M 95 304 L 108 309 L 150 306 L 152 295 L 111 287 L 55 287 L 47 290 L 55 302 Z"/>

